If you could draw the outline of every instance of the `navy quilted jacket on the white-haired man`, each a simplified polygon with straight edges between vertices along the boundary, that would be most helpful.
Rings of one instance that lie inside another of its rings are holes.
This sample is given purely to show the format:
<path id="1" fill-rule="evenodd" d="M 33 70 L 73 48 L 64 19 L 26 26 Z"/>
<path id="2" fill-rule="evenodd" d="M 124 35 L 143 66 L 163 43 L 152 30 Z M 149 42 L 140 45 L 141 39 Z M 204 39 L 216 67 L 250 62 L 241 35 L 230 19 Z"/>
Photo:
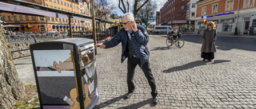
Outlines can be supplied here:
<path id="1" fill-rule="evenodd" d="M 135 53 L 141 60 L 141 64 L 145 64 L 150 58 L 150 50 L 147 46 L 149 36 L 148 33 L 146 33 L 146 29 L 142 27 L 142 25 L 137 25 L 137 29 L 138 31 L 132 32 L 131 42 L 133 44 Z M 122 28 L 110 41 L 103 43 L 106 45 L 105 49 L 108 49 L 122 42 L 122 62 L 126 60 L 126 57 L 128 57 L 128 49 L 126 49 L 127 37 L 126 29 Z"/>

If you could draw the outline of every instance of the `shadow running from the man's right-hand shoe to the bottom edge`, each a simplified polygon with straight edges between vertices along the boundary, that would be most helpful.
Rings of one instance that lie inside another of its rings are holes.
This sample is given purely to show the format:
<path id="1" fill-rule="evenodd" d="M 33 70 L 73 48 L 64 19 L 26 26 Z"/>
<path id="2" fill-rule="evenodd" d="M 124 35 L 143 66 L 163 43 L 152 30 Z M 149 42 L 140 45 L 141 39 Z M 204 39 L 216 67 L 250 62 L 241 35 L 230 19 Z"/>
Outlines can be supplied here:
<path id="1" fill-rule="evenodd" d="M 134 103 L 134 104 L 131 104 L 130 106 L 126 106 L 126 107 L 120 107 L 118 109 L 138 109 L 140 107 L 143 107 L 145 106 L 146 104 L 150 103 L 150 107 L 154 107 L 155 104 L 152 102 L 153 99 L 146 99 L 144 101 L 141 101 L 141 102 L 138 102 L 138 103 Z M 152 102 L 152 103 L 151 103 Z"/>

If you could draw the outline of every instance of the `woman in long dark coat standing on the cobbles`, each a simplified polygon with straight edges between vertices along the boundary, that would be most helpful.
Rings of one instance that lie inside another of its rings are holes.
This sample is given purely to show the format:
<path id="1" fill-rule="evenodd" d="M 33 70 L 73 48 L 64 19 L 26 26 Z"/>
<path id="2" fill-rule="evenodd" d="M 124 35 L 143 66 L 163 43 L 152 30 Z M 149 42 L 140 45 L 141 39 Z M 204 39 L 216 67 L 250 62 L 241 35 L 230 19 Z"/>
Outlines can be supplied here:
<path id="1" fill-rule="evenodd" d="M 214 59 L 214 53 L 216 52 L 215 41 L 217 40 L 217 32 L 214 27 L 214 22 L 209 21 L 207 22 L 206 29 L 204 29 L 202 33 L 201 57 L 203 61 L 211 61 Z"/>

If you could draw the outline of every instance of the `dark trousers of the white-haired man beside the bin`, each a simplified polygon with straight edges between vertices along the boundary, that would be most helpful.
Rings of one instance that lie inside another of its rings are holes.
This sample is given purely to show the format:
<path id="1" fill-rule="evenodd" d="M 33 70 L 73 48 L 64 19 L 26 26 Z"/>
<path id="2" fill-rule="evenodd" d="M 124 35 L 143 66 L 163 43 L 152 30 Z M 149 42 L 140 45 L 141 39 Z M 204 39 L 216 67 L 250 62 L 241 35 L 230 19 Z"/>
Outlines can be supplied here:
<path id="1" fill-rule="evenodd" d="M 127 84 L 128 84 L 128 90 L 129 92 L 134 91 L 134 69 L 136 68 L 137 64 L 140 68 L 142 68 L 142 71 L 144 72 L 144 75 L 146 76 L 146 79 L 148 83 L 150 84 L 151 88 L 151 95 L 153 97 L 158 95 L 158 91 L 156 90 L 155 82 L 154 82 L 154 76 L 151 73 L 150 64 L 149 62 L 146 62 L 145 64 L 141 64 L 141 61 L 136 57 L 128 57 L 128 73 L 127 73 Z M 141 66 L 142 65 L 142 66 Z"/>

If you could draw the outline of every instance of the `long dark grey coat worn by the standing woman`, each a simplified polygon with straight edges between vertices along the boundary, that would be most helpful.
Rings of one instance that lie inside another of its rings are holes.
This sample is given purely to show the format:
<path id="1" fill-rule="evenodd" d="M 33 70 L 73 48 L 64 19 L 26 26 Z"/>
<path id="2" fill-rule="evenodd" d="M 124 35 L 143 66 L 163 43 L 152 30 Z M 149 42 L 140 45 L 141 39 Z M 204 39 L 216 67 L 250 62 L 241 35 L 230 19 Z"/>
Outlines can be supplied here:
<path id="1" fill-rule="evenodd" d="M 215 53 L 215 41 L 217 39 L 216 29 L 204 29 L 202 33 L 202 53 Z"/>

